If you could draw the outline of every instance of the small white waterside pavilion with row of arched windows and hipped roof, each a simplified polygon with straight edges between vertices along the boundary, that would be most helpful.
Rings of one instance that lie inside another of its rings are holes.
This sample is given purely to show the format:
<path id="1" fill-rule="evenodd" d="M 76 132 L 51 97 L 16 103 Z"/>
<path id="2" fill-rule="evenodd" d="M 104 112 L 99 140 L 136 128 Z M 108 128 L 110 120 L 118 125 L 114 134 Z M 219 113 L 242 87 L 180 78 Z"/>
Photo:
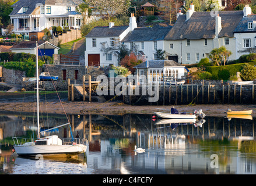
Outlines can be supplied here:
<path id="1" fill-rule="evenodd" d="M 134 67 L 139 83 L 163 82 L 163 78 L 182 78 L 185 67 L 173 60 L 147 60 Z"/>

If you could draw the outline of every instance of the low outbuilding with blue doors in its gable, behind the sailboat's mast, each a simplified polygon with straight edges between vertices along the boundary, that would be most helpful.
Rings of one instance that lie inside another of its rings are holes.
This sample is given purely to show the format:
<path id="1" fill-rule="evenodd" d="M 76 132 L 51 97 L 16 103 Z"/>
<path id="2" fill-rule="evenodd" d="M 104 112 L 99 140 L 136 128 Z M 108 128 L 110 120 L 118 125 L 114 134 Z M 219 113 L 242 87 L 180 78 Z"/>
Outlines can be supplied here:
<path id="1" fill-rule="evenodd" d="M 13 45 L 10 50 L 15 53 L 31 53 L 36 54 L 36 42 L 37 41 L 22 41 L 17 45 Z M 59 48 L 48 41 L 38 41 L 38 56 L 52 56 L 58 54 Z"/>

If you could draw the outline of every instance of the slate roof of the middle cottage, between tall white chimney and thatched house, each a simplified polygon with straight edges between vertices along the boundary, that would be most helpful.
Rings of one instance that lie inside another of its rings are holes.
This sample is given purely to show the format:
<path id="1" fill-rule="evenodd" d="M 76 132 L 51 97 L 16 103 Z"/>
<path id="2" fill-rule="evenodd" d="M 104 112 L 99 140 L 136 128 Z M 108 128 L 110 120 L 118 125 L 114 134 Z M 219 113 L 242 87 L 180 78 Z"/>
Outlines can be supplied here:
<path id="1" fill-rule="evenodd" d="M 136 41 L 157 41 L 164 40 L 164 37 L 171 30 L 171 27 L 139 27 L 131 31 L 122 40 L 122 42 L 136 42 Z"/>

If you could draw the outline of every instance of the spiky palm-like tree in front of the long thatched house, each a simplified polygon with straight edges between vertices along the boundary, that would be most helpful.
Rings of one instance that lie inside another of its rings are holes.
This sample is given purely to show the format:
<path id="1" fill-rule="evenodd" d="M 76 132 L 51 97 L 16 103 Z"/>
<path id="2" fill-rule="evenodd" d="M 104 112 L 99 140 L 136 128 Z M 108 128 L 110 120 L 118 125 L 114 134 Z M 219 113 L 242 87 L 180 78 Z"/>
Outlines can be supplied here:
<path id="1" fill-rule="evenodd" d="M 232 52 L 227 50 L 226 47 L 222 46 L 220 48 L 214 48 L 210 55 L 209 58 L 212 60 L 213 65 L 226 65 L 227 58 L 232 55 Z"/>

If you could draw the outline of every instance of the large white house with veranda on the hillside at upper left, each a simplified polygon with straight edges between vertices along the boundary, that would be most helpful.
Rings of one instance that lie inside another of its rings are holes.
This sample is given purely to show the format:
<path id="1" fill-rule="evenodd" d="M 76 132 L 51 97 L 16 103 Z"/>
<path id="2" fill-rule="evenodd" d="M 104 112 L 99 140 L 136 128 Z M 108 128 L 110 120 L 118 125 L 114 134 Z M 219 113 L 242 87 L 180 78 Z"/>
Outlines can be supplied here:
<path id="1" fill-rule="evenodd" d="M 12 5 L 10 20 L 15 34 L 41 31 L 52 26 L 80 28 L 82 15 L 77 12 L 82 0 L 19 0 Z M 2 34 L 6 30 L 2 29 Z"/>

